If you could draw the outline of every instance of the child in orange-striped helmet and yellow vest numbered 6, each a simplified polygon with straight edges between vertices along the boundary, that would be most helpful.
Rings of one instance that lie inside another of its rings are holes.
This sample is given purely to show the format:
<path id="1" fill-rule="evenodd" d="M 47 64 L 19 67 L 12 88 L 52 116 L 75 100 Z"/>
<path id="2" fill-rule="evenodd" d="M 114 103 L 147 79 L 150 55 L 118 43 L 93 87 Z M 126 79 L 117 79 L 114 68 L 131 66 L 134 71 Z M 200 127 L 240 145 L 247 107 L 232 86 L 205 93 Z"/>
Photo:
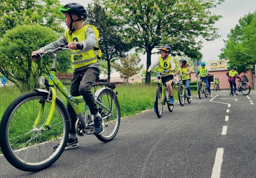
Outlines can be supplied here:
<path id="1" fill-rule="evenodd" d="M 158 48 L 158 50 L 161 51 L 161 56 L 157 58 L 154 63 L 152 63 L 149 68 L 147 69 L 147 72 L 150 73 L 152 69 L 154 69 L 156 66 L 158 66 L 158 72 L 164 72 L 165 70 L 175 70 L 175 63 L 171 57 L 171 47 L 168 45 L 161 46 Z M 170 55 L 170 56 L 169 56 Z M 170 73 L 164 73 L 162 74 L 162 81 L 163 83 L 166 83 L 168 93 L 169 93 L 169 101 L 168 103 L 170 105 L 174 105 L 174 98 L 173 98 L 173 90 L 171 86 L 171 82 L 173 80 L 173 74 Z M 154 107 L 154 111 L 155 111 Z"/>

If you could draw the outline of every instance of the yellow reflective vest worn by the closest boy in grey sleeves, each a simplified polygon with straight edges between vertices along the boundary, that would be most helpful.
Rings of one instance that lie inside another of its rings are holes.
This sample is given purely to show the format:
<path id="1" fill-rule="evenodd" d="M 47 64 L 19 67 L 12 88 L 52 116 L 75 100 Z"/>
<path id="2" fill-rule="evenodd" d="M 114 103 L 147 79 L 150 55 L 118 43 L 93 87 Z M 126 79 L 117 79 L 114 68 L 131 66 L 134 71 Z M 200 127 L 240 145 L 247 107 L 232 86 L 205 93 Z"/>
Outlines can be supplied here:
<path id="1" fill-rule="evenodd" d="M 84 51 L 84 49 L 73 50 L 71 52 L 71 62 L 72 62 L 73 69 L 94 64 L 97 62 L 98 58 L 101 59 L 102 57 L 102 51 L 101 49 L 99 49 L 99 44 L 98 44 L 99 31 L 93 25 L 86 24 L 81 29 L 74 31 L 71 34 L 69 34 L 69 29 L 68 29 L 64 33 L 65 38 L 68 41 L 68 43 L 71 41 L 81 42 L 86 39 L 86 31 L 88 27 L 93 28 L 93 31 L 97 39 L 97 48 L 94 48 L 94 49 L 92 48 L 88 51 Z M 95 50 L 98 52 L 98 55 L 95 53 Z"/>

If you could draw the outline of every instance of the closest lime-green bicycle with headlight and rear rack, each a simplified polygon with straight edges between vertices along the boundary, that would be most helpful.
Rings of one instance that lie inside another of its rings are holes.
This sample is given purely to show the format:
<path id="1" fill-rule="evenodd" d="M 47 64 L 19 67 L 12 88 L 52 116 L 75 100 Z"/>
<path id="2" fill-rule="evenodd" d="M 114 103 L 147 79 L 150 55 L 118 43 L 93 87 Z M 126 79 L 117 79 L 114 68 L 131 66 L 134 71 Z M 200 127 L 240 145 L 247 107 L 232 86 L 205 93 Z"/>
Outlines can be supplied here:
<path id="1" fill-rule="evenodd" d="M 43 54 L 53 57 L 49 81 L 39 77 L 38 83 L 45 89 L 35 89 L 14 100 L 5 110 L 0 124 L 0 147 L 5 158 L 13 166 L 24 171 L 39 171 L 52 165 L 61 156 L 68 142 L 70 118 L 63 102 L 56 96 L 57 89 L 65 96 L 77 114 L 76 132 L 78 135 L 94 133 L 93 115 L 85 105 L 82 115 L 78 103 L 82 96 L 73 97 L 56 77 L 57 52 L 71 50 L 66 46 L 49 49 Z M 43 55 L 42 55 L 43 56 Z M 39 59 L 43 59 L 37 54 Z M 120 125 L 120 106 L 115 85 L 100 83 L 92 85 L 95 101 L 104 120 L 105 131 L 95 135 L 102 142 L 111 141 Z M 57 150 L 53 146 L 59 144 Z"/>

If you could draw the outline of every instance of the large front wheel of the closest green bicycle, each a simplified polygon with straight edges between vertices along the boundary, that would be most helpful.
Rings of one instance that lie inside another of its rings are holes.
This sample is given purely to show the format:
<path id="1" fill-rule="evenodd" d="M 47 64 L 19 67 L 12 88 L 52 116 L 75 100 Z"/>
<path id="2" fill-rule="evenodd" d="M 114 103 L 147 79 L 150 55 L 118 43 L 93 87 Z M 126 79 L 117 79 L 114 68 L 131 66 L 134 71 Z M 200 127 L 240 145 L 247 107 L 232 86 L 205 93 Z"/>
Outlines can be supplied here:
<path id="1" fill-rule="evenodd" d="M 69 114 L 59 99 L 56 99 L 49 127 L 42 128 L 52 103 L 47 101 L 47 95 L 25 93 L 8 106 L 3 115 L 0 146 L 8 162 L 20 170 L 35 172 L 49 167 L 61 156 L 68 141 Z"/>

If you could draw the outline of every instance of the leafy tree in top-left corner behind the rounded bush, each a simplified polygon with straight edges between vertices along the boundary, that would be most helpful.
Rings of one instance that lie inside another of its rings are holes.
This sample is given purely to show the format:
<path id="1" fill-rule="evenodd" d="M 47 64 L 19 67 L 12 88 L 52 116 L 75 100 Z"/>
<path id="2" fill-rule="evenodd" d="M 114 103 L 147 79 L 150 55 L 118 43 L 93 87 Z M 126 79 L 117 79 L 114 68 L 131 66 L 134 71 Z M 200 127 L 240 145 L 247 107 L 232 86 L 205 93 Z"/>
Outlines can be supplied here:
<path id="1" fill-rule="evenodd" d="M 0 3 L 0 38 L 20 24 L 41 24 L 62 32 L 64 16 L 58 13 L 59 0 L 2 0 Z"/>

